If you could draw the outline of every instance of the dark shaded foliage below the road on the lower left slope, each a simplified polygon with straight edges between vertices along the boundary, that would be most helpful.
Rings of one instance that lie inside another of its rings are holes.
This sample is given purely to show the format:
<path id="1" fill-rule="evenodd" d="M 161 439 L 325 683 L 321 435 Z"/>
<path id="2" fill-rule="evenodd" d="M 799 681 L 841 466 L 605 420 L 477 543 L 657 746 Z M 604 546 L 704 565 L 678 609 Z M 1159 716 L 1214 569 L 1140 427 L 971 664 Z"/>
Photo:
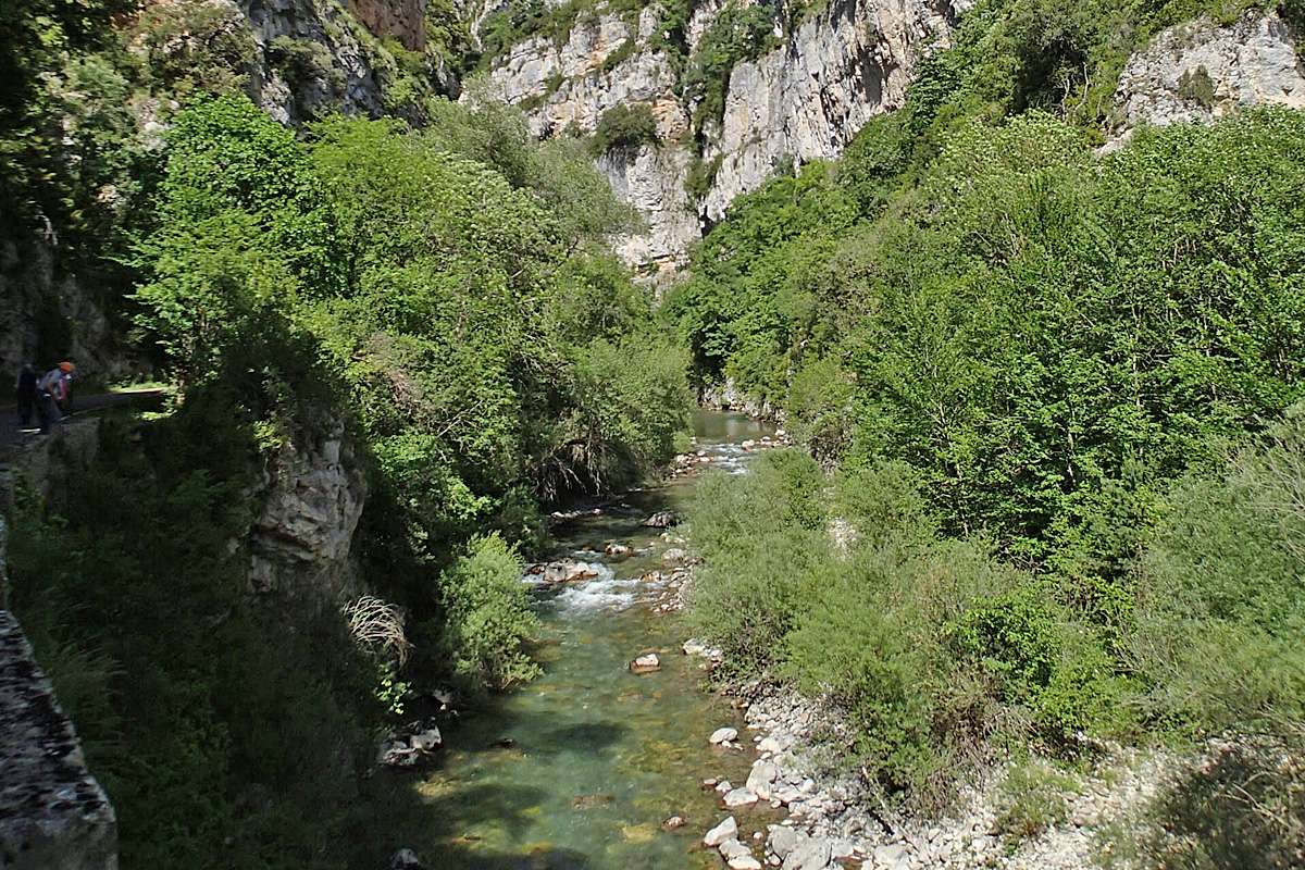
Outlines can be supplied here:
<path id="1" fill-rule="evenodd" d="M 230 541 L 257 466 L 232 408 L 197 393 L 188 415 L 103 424 L 57 514 L 30 497 L 12 514 L 12 605 L 114 801 L 124 863 L 341 866 L 324 856 L 368 751 L 369 680 L 333 610 L 287 631 L 244 588 Z"/>

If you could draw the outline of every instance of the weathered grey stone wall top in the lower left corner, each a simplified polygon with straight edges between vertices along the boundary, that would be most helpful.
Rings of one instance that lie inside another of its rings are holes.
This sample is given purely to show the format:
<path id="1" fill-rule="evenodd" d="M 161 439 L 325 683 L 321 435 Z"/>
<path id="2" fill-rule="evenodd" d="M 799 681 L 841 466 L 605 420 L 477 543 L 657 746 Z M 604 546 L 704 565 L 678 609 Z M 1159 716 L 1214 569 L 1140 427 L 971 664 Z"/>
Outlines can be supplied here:
<path id="1" fill-rule="evenodd" d="M 117 867 L 114 807 L 8 610 L 0 610 L 0 867 Z"/>

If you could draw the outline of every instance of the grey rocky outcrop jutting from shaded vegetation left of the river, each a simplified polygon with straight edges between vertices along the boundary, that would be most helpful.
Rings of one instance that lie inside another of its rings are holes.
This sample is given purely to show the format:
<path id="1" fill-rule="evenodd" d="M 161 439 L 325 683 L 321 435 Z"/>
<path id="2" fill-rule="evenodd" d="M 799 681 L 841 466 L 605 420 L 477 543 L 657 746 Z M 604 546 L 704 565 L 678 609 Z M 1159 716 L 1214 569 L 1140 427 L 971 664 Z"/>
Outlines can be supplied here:
<path id="1" fill-rule="evenodd" d="M 339 420 L 288 440 L 264 470 L 262 510 L 249 548 L 254 592 L 338 601 L 358 592 L 354 532 L 367 481 Z"/>

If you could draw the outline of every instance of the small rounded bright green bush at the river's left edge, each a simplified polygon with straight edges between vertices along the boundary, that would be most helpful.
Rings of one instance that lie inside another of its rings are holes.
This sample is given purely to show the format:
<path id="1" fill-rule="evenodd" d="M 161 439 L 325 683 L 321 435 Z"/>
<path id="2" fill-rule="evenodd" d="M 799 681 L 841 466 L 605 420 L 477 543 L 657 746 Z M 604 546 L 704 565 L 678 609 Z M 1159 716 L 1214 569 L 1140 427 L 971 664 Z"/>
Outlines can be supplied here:
<path id="1" fill-rule="evenodd" d="M 526 650 L 538 623 L 522 573 L 515 550 L 489 535 L 471 539 L 467 553 L 440 577 L 445 653 L 472 685 L 506 689 L 539 674 Z"/>

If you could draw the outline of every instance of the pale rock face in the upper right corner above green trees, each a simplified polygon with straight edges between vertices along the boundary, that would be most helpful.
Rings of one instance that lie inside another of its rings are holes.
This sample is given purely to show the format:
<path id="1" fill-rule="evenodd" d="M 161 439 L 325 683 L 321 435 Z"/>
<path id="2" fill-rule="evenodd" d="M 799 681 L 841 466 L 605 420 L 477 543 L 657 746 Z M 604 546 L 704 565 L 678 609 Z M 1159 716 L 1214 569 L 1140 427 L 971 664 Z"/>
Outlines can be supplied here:
<path id="1" fill-rule="evenodd" d="M 1296 35 L 1276 13 L 1250 12 L 1220 27 L 1207 20 L 1161 31 L 1120 74 L 1111 143 L 1138 127 L 1208 121 L 1250 106 L 1305 108 Z"/>

